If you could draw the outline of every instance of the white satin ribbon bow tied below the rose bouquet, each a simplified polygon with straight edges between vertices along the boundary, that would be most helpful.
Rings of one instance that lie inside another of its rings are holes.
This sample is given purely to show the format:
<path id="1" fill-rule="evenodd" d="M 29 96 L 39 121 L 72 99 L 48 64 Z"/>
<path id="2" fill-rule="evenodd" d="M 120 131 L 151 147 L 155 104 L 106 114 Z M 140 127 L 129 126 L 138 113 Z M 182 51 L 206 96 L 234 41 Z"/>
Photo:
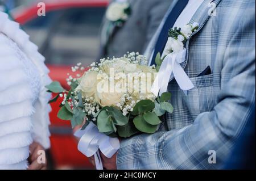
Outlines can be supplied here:
<path id="1" fill-rule="evenodd" d="M 99 132 L 93 123 L 89 123 L 84 130 L 79 129 L 75 133 L 75 136 L 80 138 L 77 146 L 78 150 L 86 155 L 86 157 L 92 157 L 94 155 L 97 170 L 103 170 L 100 150 L 106 157 L 111 158 L 120 148 L 118 138 L 112 138 Z"/>

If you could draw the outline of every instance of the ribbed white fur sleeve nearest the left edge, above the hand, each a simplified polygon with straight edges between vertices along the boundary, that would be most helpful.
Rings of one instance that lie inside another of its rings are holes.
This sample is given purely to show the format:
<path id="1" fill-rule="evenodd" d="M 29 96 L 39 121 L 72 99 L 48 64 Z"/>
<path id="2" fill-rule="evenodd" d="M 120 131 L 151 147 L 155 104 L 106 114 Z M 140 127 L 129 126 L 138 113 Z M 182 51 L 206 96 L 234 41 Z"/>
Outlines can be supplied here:
<path id="1" fill-rule="evenodd" d="M 26 169 L 32 142 L 32 92 L 23 65 L 0 32 L 0 169 Z"/>

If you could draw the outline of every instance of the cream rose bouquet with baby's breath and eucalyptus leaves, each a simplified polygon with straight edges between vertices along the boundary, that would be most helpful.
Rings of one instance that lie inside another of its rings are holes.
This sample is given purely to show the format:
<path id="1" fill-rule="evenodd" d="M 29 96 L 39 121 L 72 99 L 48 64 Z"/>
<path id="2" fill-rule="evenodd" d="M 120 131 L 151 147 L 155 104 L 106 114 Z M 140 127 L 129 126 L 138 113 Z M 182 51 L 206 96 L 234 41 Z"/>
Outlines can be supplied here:
<path id="1" fill-rule="evenodd" d="M 57 116 L 71 120 L 72 127 L 85 129 L 93 123 L 110 137 L 154 133 L 161 123 L 159 117 L 173 108 L 169 92 L 156 97 L 150 91 L 157 71 L 146 63 L 144 56 L 134 52 L 94 62 L 84 75 L 67 78 L 68 91 L 59 82 L 46 86 L 58 94 L 49 103 L 63 99 Z M 81 64 L 72 67 L 72 71 L 78 70 L 84 70 Z"/>

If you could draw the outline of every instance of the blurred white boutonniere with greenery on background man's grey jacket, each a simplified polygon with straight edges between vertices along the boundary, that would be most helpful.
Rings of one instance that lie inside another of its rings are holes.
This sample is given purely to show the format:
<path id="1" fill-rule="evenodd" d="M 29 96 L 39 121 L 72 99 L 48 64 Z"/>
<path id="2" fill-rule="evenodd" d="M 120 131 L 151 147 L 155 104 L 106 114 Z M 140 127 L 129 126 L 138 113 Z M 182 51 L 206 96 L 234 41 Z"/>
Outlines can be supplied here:
<path id="1" fill-rule="evenodd" d="M 109 5 L 106 11 L 106 18 L 115 23 L 117 26 L 122 26 L 131 14 L 131 7 L 128 2 L 113 2 Z"/>

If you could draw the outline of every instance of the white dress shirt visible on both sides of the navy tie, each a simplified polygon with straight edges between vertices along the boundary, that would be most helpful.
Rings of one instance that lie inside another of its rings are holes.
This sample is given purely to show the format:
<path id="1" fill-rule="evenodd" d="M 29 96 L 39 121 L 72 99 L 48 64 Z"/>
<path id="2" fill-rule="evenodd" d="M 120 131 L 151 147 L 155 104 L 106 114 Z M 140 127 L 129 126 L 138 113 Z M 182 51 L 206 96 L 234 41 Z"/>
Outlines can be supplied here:
<path id="1" fill-rule="evenodd" d="M 179 27 L 183 27 L 185 24 L 188 24 L 190 22 L 191 18 L 193 17 L 193 15 L 195 14 L 195 12 L 197 11 L 197 9 L 199 9 L 199 7 L 201 6 L 201 4 L 204 1 L 207 1 L 207 0 L 189 0 L 187 6 L 184 8 L 184 10 L 181 12 L 181 14 L 177 18 L 176 22 L 174 23 L 174 27 L 179 28 Z M 148 62 L 148 65 L 151 64 L 152 56 L 154 54 L 155 43 L 156 43 L 157 38 L 158 38 L 158 36 L 159 36 L 159 34 L 162 30 L 163 24 L 166 21 L 166 18 L 168 16 L 168 14 L 170 14 L 171 11 L 172 11 L 172 9 L 170 9 L 167 12 L 167 15 L 163 19 L 163 22 L 160 24 L 160 26 L 158 28 L 158 31 L 156 31 L 155 36 L 151 40 L 150 44 L 148 45 L 148 48 L 147 48 L 146 52 L 144 53 L 144 55 L 150 61 L 150 62 Z"/>

